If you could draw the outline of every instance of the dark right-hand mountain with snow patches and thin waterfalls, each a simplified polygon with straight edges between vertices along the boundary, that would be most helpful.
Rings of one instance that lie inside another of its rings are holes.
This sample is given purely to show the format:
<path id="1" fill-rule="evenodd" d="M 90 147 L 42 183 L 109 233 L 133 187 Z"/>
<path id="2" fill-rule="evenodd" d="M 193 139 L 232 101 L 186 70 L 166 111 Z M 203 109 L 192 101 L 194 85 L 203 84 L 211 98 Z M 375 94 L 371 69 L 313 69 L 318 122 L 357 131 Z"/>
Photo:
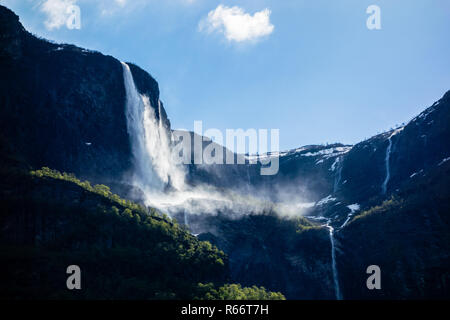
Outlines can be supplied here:
<path id="1" fill-rule="evenodd" d="M 344 298 L 449 297 L 449 130 L 447 92 L 405 126 L 355 146 L 286 152 L 280 158 L 286 176 L 269 178 L 275 189 L 288 179 L 322 182 L 315 189 L 318 201 L 306 213 L 316 225 L 308 238 L 301 229 L 281 229 L 282 222 L 257 216 L 210 218 L 210 230 L 200 238 L 228 253 L 235 280 L 251 275 L 252 281 L 278 288 L 291 299 L 330 299 L 335 285 L 327 224 L 335 229 Z M 366 287 L 370 265 L 382 270 L 381 291 Z"/>

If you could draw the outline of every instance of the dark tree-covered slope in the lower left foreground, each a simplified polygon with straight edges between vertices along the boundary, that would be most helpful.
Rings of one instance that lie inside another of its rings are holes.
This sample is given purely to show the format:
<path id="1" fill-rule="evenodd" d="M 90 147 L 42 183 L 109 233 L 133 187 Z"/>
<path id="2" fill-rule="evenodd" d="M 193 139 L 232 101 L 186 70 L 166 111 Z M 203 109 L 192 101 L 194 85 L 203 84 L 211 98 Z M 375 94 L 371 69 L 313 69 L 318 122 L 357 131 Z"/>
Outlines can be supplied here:
<path id="1" fill-rule="evenodd" d="M 220 287 L 223 252 L 106 186 L 47 168 L 0 177 L 0 299 L 283 298 Z M 82 290 L 66 288 L 70 265 L 82 270 Z"/>

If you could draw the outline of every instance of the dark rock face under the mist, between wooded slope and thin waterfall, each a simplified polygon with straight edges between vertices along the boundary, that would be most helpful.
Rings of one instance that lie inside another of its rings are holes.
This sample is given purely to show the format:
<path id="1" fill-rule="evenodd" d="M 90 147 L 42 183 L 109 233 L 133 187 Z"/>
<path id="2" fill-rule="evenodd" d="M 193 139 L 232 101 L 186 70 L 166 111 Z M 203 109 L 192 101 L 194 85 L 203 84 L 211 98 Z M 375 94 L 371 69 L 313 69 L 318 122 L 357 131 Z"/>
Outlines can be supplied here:
<path id="1" fill-rule="evenodd" d="M 228 254 L 230 277 L 277 288 L 288 299 L 334 299 L 328 231 L 275 215 L 210 217 L 199 235 Z"/>

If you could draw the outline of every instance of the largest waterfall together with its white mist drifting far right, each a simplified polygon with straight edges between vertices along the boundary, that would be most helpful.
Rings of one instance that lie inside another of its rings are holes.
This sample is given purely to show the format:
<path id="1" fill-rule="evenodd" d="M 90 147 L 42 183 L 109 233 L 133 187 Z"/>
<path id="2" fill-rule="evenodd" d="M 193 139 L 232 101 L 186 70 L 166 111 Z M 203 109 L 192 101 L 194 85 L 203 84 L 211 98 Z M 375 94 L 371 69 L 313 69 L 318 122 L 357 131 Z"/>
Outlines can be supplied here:
<path id="1" fill-rule="evenodd" d="M 132 183 L 145 194 L 145 204 L 169 215 L 184 212 L 185 223 L 190 214 L 216 214 L 230 212 L 236 215 L 267 212 L 278 208 L 288 215 L 298 214 L 304 203 L 272 203 L 252 194 L 233 190 L 217 189 L 209 184 L 195 187 L 185 182 L 186 170 L 174 150 L 170 128 L 161 117 L 161 103 L 156 109 L 150 99 L 136 88 L 130 67 L 123 63 L 126 89 L 127 130 L 134 160 Z M 248 172 L 249 173 L 249 172 Z M 248 175 L 250 184 L 250 175 Z M 248 190 L 247 190 L 248 191 Z M 259 192 L 260 193 L 260 192 Z M 292 199 L 290 199 L 292 200 Z"/>

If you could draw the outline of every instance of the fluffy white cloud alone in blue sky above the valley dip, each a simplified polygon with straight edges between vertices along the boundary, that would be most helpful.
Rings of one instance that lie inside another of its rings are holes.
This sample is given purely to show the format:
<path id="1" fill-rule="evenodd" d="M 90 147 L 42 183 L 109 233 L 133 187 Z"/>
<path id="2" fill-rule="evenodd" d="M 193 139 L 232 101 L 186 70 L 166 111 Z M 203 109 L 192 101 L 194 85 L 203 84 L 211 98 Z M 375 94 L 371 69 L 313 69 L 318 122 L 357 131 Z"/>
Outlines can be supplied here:
<path id="1" fill-rule="evenodd" d="M 270 23 L 270 14 L 269 9 L 250 15 L 240 7 L 219 5 L 200 21 L 199 30 L 223 33 L 228 41 L 257 40 L 273 32 L 275 27 Z"/>

